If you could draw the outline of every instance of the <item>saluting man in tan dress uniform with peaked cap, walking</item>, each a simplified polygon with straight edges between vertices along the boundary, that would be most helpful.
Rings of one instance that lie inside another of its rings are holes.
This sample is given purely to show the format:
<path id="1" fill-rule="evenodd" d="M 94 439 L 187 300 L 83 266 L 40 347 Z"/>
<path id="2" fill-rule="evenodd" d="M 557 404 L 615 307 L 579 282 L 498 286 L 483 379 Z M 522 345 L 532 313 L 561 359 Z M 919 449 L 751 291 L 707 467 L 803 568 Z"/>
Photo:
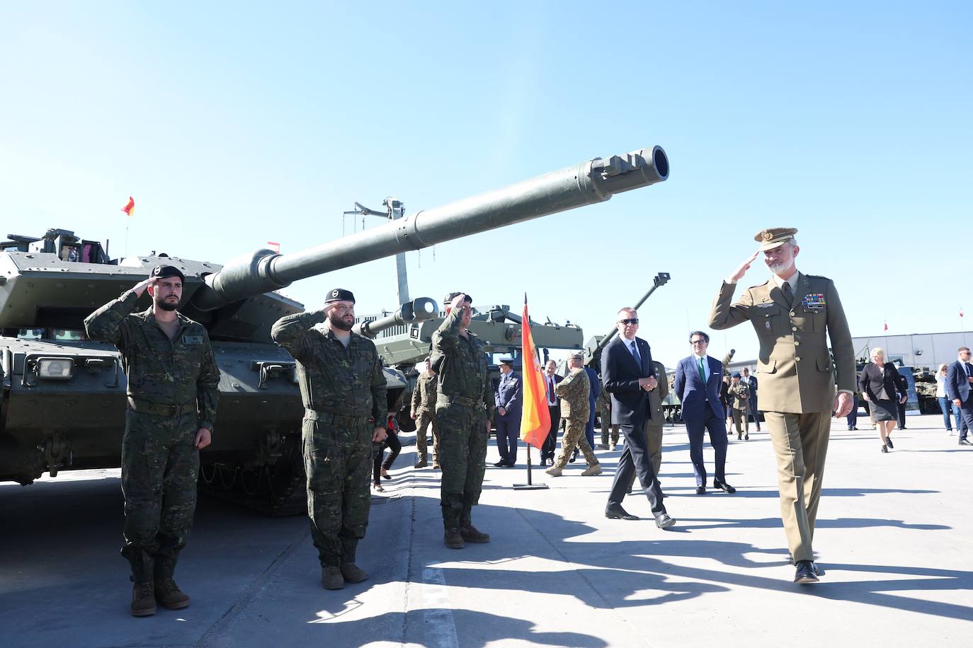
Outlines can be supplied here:
<path id="1" fill-rule="evenodd" d="M 796 583 L 817 582 L 811 540 L 821 496 L 821 477 L 831 431 L 831 414 L 847 416 L 854 390 L 854 352 L 845 311 L 834 283 L 797 271 L 800 252 L 796 229 L 777 227 L 759 232 L 761 244 L 724 280 L 713 301 L 709 325 L 730 328 L 753 324 L 760 342 L 757 408 L 764 412 L 774 442 L 780 510 L 797 566 Z M 733 293 L 739 279 L 760 253 L 770 281 Z M 827 336 L 825 335 L 827 333 Z M 828 341 L 835 358 L 832 367 Z M 835 378 L 838 377 L 838 392 Z"/>

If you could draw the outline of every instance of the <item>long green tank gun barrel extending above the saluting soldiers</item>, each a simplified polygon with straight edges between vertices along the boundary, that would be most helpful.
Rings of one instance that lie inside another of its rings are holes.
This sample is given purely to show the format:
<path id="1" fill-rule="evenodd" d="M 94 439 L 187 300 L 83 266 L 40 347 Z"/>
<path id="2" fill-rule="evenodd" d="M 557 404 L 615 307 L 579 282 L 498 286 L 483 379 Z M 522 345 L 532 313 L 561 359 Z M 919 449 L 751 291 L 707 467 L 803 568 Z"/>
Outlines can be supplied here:
<path id="1" fill-rule="evenodd" d="M 603 202 L 615 193 L 664 182 L 668 174 L 666 152 L 658 146 L 606 159 L 595 157 L 303 252 L 278 255 L 260 250 L 237 257 L 206 277 L 206 287 L 193 294 L 192 303 L 199 310 L 213 310 L 306 277 Z"/>

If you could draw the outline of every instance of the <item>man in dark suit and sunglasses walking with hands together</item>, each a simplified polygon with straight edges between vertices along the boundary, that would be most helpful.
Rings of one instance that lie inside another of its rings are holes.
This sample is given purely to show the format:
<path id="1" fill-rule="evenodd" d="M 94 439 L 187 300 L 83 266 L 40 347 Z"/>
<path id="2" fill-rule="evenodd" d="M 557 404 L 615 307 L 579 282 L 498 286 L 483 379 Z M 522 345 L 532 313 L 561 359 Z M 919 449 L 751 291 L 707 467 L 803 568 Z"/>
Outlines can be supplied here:
<path id="1" fill-rule="evenodd" d="M 648 343 L 635 337 L 638 331 L 638 313 L 632 308 L 618 312 L 616 336 L 601 352 L 602 389 L 611 394 L 611 422 L 617 424 L 625 435 L 625 450 L 618 460 L 615 481 L 605 506 L 605 517 L 618 520 L 637 520 L 622 508 L 622 500 L 631 484 L 631 474 L 638 476 L 639 484 L 656 518 L 659 529 L 675 524 L 663 504 L 655 470 L 645 441 L 645 422 L 652 417 L 648 392 L 658 388 L 659 382 L 652 366 L 652 353 Z"/>

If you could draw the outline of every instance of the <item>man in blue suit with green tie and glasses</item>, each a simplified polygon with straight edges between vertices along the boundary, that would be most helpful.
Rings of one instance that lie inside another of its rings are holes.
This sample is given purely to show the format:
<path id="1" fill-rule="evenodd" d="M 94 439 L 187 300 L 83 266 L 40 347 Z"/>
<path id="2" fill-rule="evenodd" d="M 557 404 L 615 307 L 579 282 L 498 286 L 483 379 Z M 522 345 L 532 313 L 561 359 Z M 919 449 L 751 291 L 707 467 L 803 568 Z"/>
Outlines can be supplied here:
<path id="1" fill-rule="evenodd" d="M 709 443 L 716 451 L 716 477 L 713 488 L 726 493 L 737 489 L 726 482 L 727 428 L 723 404 L 720 402 L 720 382 L 723 364 L 706 355 L 709 336 L 702 330 L 689 335 L 693 355 L 679 360 L 675 369 L 675 394 L 682 402 L 682 420 L 689 434 L 689 459 L 696 473 L 696 495 L 706 492 L 706 466 L 703 464 L 703 432 L 709 430 Z"/>

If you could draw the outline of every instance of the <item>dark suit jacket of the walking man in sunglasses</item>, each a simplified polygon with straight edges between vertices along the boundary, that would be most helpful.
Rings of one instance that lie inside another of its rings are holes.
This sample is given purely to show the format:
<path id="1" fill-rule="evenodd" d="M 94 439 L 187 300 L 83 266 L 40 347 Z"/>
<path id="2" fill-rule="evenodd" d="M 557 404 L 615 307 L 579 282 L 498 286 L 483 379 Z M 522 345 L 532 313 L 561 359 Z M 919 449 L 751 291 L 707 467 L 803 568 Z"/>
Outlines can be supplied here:
<path id="1" fill-rule="evenodd" d="M 616 335 L 601 352 L 601 387 L 611 394 L 612 424 L 638 426 L 652 418 L 648 393 L 638 387 L 638 379 L 655 376 L 655 369 L 648 342 L 635 338 L 640 364 L 625 342 L 621 335 Z"/>

